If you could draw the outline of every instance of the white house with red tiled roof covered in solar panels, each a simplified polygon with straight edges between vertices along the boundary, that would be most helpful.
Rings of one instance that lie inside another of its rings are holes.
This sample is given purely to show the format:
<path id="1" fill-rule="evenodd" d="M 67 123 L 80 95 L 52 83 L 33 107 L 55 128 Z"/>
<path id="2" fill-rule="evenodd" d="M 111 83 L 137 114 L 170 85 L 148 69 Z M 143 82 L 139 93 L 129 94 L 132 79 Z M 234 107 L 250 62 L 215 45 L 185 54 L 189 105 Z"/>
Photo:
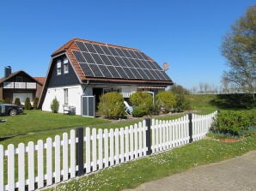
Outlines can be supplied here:
<path id="1" fill-rule="evenodd" d="M 94 116 L 101 94 L 138 90 L 157 93 L 173 81 L 155 61 L 134 48 L 71 39 L 52 53 L 39 106 L 51 111 L 53 98 L 59 112 L 72 108 L 76 115 Z"/>

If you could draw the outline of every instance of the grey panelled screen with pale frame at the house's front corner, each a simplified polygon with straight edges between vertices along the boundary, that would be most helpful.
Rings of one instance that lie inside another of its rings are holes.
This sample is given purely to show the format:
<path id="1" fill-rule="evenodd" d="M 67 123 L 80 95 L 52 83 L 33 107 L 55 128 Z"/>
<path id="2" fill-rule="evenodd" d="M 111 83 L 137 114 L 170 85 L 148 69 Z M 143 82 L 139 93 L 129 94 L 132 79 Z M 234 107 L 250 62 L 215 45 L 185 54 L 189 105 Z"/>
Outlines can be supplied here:
<path id="1" fill-rule="evenodd" d="M 82 116 L 95 116 L 94 96 L 82 96 Z"/>

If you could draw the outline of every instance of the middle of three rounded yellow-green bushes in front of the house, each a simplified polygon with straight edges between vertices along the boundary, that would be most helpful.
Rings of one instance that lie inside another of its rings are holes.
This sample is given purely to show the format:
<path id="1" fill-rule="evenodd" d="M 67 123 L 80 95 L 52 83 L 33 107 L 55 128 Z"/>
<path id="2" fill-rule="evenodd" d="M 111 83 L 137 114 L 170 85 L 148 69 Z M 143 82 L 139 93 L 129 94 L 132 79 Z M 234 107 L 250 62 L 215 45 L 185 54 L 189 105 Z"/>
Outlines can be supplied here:
<path id="1" fill-rule="evenodd" d="M 149 115 L 153 108 L 153 98 L 150 93 L 132 93 L 130 96 L 130 101 L 133 106 L 133 110 L 136 110 L 136 108 L 139 107 L 137 110 L 141 110 L 143 115 Z"/>

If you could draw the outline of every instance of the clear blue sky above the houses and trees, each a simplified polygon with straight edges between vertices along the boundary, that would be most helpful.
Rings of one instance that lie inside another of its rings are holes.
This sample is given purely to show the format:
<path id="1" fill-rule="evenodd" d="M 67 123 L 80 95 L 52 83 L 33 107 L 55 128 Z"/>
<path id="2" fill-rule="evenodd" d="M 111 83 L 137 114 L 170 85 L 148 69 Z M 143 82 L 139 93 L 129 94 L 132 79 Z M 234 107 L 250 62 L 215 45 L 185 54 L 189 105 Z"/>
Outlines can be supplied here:
<path id="1" fill-rule="evenodd" d="M 1 1 L 0 77 L 4 67 L 46 76 L 51 54 L 73 38 L 137 48 L 174 83 L 220 86 L 222 37 L 253 0 Z"/>

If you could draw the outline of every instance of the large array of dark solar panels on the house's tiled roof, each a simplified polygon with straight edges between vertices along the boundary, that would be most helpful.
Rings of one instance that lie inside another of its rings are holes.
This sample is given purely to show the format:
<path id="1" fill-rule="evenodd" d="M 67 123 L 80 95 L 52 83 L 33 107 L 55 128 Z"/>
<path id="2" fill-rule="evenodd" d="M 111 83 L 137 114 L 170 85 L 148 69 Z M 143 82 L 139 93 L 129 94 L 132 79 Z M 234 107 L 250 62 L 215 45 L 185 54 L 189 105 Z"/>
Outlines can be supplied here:
<path id="1" fill-rule="evenodd" d="M 84 75 L 97 78 L 171 81 L 164 70 L 142 51 L 76 41 L 72 51 Z"/>

